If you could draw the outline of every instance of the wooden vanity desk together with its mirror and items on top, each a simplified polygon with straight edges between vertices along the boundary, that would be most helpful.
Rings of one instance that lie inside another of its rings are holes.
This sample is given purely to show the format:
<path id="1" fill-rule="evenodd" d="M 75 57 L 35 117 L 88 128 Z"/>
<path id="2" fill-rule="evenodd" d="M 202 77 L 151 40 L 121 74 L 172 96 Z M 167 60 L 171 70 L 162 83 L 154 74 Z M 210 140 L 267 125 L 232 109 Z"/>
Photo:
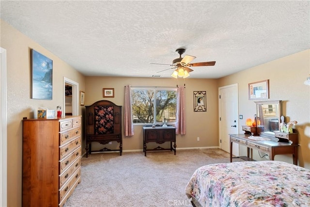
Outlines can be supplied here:
<path id="1" fill-rule="evenodd" d="M 233 143 L 247 147 L 247 156 L 238 157 L 248 161 L 250 149 L 256 149 L 269 155 L 269 160 L 274 160 L 276 155 L 293 155 L 293 163 L 298 161 L 298 133 L 280 131 L 280 123 L 284 123 L 281 116 L 281 101 L 255 101 L 256 113 L 254 117 L 257 126 L 242 126 L 244 134 L 230 134 L 230 161 L 233 161 Z M 254 136 L 253 136 L 254 135 Z"/>

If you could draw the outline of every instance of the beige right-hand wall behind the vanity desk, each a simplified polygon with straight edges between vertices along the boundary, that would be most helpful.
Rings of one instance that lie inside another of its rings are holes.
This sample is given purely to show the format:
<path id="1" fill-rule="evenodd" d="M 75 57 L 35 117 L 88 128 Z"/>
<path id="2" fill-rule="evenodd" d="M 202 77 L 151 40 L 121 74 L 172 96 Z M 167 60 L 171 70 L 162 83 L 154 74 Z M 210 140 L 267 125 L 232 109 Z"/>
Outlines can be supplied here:
<path id="1" fill-rule="evenodd" d="M 239 114 L 244 119 L 239 120 L 239 133 L 244 133 L 241 126 L 247 118 L 256 113 L 253 100 L 248 100 L 248 83 L 269 79 L 269 100 L 282 100 L 282 113 L 286 122 L 296 120 L 299 132 L 298 162 L 300 166 L 310 169 L 310 86 L 303 82 L 310 74 L 310 50 L 289 55 L 278 60 L 258 65 L 248 70 L 219 79 L 218 86 L 238 83 Z M 241 147 L 240 154 L 246 155 L 245 147 Z M 253 151 L 254 159 L 261 160 L 258 152 Z M 275 157 L 293 163 L 291 156 Z"/>

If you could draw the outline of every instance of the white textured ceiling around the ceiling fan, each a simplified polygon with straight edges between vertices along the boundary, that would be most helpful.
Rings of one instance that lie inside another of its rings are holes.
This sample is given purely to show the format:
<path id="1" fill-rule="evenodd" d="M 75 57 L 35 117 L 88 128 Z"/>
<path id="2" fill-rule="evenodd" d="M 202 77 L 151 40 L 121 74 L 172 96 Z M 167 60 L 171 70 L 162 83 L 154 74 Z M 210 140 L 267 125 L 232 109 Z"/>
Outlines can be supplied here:
<path id="1" fill-rule="evenodd" d="M 0 1 L 0 17 L 86 76 L 220 78 L 310 48 L 310 1 Z M 183 56 L 184 56 L 183 55 Z M 183 57 L 182 56 L 182 57 Z"/>

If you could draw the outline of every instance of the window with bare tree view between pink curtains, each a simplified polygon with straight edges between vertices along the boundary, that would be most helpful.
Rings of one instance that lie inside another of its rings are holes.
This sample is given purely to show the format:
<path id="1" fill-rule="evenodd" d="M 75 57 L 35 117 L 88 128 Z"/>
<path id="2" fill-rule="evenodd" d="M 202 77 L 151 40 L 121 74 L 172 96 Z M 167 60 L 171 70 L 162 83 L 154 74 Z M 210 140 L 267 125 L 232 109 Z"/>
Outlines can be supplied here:
<path id="1" fill-rule="evenodd" d="M 175 122 L 176 88 L 132 87 L 131 104 L 134 124 L 162 124 L 164 119 Z"/>

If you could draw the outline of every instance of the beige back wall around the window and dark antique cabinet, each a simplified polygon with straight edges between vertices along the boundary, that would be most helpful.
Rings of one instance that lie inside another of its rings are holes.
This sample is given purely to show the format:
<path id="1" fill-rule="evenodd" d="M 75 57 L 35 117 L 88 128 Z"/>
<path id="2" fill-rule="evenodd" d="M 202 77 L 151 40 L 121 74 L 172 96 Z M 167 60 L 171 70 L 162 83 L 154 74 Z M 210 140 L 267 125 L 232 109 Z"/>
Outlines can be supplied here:
<path id="1" fill-rule="evenodd" d="M 185 83 L 186 135 L 177 135 L 177 148 L 218 146 L 217 80 L 117 77 L 86 77 L 85 80 L 85 105 L 91 105 L 98 100 L 106 99 L 117 105 L 124 106 L 124 86 L 127 84 L 131 86 L 175 87 L 176 85 L 184 85 Z M 114 98 L 103 98 L 103 88 L 114 88 Z M 206 112 L 194 112 L 194 91 L 206 91 Z M 135 125 L 134 132 L 135 135 L 132 137 L 126 138 L 123 136 L 123 150 L 143 149 L 142 126 Z M 200 137 L 199 142 L 197 141 L 197 137 Z M 95 145 L 95 143 L 93 145 Z M 150 144 L 149 147 L 151 148 L 151 146 L 152 144 Z M 111 145 L 111 147 L 113 147 L 113 145 Z"/>

